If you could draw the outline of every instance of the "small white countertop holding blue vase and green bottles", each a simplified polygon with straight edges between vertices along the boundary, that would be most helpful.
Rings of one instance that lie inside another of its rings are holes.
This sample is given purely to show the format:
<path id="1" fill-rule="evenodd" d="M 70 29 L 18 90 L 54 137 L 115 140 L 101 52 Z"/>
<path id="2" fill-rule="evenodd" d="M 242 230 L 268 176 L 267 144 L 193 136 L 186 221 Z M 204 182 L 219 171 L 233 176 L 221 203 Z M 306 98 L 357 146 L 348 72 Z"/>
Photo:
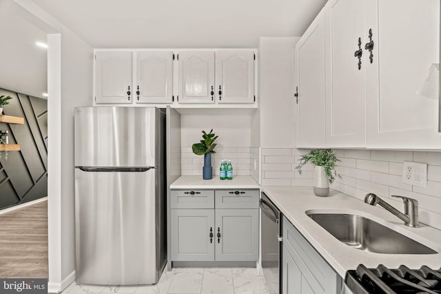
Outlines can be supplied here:
<path id="1" fill-rule="evenodd" d="M 181 176 L 170 189 L 259 189 L 260 186 L 251 176 L 234 176 L 232 180 L 220 180 L 214 176 L 203 180 L 202 176 Z"/>

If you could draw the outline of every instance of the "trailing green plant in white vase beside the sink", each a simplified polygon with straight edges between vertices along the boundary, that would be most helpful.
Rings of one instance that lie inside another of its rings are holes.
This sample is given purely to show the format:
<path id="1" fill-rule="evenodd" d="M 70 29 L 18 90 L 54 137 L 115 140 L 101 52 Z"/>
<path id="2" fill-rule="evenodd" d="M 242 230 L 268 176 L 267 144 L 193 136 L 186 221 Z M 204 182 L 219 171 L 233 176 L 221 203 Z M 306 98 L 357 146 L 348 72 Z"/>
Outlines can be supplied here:
<path id="1" fill-rule="evenodd" d="M 316 196 L 328 196 L 329 184 L 332 184 L 336 177 L 341 178 L 336 171 L 336 163 L 340 161 L 332 149 L 313 149 L 300 157 L 296 169 L 302 174 L 302 166 L 311 162 L 314 168 L 314 194 Z"/>

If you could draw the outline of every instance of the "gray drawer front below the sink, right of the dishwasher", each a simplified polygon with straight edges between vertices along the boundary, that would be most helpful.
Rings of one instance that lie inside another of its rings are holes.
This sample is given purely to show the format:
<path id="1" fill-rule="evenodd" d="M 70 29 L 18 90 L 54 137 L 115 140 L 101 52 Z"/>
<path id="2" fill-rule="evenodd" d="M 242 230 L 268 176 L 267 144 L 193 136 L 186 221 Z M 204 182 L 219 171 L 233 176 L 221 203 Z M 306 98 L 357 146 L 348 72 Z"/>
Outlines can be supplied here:
<path id="1" fill-rule="evenodd" d="M 338 274 L 285 217 L 283 217 L 283 245 L 294 258 L 309 285 L 315 289 L 314 293 L 337 293 Z"/>

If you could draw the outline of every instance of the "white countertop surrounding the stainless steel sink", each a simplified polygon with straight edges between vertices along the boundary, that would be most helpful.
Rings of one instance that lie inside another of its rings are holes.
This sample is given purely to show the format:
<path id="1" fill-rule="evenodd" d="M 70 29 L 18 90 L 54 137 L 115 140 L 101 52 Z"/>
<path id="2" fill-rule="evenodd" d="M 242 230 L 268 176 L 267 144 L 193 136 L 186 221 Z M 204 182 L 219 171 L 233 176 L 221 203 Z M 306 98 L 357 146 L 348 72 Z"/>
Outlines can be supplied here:
<path id="1" fill-rule="evenodd" d="M 390 269 L 395 269 L 401 264 L 410 269 L 419 269 L 423 265 L 432 269 L 441 267 L 441 253 L 381 254 L 347 246 L 309 218 L 305 211 L 356 213 L 441 252 L 441 231 L 438 229 L 421 223 L 419 228 L 407 227 L 402 220 L 393 216 L 389 211 L 365 204 L 361 200 L 338 191 L 331 190 L 328 197 L 318 197 L 314 195 L 312 187 L 262 187 L 262 189 L 341 277 L 345 277 L 347 270 L 356 269 L 358 264 L 364 264 L 367 268 L 375 268 L 378 264 L 384 264 Z"/>

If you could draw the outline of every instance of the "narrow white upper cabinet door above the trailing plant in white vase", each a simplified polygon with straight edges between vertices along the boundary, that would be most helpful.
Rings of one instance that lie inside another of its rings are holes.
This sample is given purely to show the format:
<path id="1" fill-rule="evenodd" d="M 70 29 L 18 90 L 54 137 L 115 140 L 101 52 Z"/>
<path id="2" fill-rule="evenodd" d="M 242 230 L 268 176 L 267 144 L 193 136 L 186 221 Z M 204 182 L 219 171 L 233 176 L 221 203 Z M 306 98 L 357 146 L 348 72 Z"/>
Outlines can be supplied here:
<path id="1" fill-rule="evenodd" d="M 296 147 L 325 147 L 325 12 L 309 25 L 294 51 Z"/>

